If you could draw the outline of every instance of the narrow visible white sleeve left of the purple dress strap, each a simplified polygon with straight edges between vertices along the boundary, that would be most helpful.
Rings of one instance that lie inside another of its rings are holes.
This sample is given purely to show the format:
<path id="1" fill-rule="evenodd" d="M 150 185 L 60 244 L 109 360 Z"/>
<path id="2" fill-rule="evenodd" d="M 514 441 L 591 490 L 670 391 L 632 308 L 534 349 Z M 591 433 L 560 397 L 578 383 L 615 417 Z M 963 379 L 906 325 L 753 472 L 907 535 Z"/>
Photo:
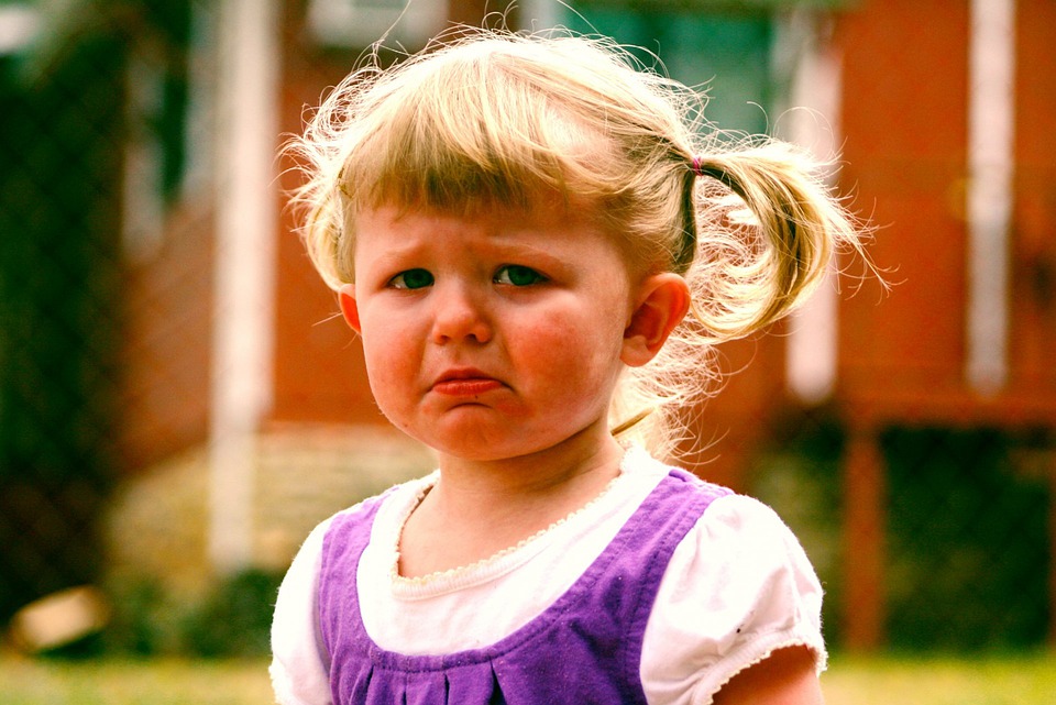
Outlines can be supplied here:
<path id="1" fill-rule="evenodd" d="M 268 671 L 280 705 L 330 705 L 326 647 L 319 631 L 318 585 L 322 540 L 330 521 L 305 540 L 278 588 Z"/>

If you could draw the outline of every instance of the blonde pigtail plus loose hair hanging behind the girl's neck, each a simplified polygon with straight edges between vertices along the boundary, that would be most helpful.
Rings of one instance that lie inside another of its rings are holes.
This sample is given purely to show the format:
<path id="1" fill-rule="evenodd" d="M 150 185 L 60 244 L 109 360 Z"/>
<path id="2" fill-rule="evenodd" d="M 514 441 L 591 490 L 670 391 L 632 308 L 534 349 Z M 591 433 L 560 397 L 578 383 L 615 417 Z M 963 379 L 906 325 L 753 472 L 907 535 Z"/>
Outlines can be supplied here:
<path id="1" fill-rule="evenodd" d="M 680 243 L 668 246 L 692 293 L 690 315 L 649 365 L 625 372 L 610 410 L 620 438 L 658 455 L 684 450 L 685 409 L 722 382 L 717 343 L 802 305 L 840 249 L 864 256 L 858 223 L 805 151 L 778 141 L 715 146 L 686 159 Z"/>

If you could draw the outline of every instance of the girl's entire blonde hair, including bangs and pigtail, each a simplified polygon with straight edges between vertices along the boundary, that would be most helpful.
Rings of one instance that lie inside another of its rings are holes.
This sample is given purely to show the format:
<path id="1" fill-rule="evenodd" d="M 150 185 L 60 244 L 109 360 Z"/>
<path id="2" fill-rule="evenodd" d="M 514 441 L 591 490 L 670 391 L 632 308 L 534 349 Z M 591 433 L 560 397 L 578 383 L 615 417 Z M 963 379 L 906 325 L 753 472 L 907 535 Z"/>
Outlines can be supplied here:
<path id="1" fill-rule="evenodd" d="M 715 343 L 781 318 L 837 246 L 860 247 L 821 165 L 773 140 L 724 141 L 702 95 L 609 41 L 462 30 L 391 68 L 372 59 L 287 147 L 307 175 L 294 200 L 323 279 L 353 280 L 363 209 L 529 208 L 540 189 L 587 199 L 644 271 L 681 274 L 693 293 L 691 315 L 626 371 L 612 405 L 610 421 L 653 452 L 672 450 L 678 407 L 711 388 Z"/>

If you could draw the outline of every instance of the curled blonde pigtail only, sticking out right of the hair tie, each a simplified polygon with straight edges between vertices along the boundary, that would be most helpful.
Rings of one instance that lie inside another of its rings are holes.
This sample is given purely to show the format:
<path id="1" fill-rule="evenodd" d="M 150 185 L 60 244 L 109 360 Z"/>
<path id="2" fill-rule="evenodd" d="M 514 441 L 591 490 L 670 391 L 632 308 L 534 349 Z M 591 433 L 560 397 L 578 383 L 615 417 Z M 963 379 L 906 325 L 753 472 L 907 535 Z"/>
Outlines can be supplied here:
<path id="1" fill-rule="evenodd" d="M 792 145 L 705 153 L 692 169 L 701 183 L 691 315 L 715 341 L 782 318 L 814 291 L 838 247 L 860 246 L 820 166 Z"/>

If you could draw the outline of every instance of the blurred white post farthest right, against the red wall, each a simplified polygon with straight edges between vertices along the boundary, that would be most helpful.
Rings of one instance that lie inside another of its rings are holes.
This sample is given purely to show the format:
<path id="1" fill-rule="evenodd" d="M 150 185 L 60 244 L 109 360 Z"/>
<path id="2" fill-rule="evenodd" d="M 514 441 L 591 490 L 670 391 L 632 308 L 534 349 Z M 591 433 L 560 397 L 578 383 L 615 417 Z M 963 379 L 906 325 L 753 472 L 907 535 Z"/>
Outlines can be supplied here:
<path id="1" fill-rule="evenodd" d="M 1008 379 L 1009 232 L 1015 128 L 1015 0 L 971 0 L 968 87 L 968 384 Z"/>

